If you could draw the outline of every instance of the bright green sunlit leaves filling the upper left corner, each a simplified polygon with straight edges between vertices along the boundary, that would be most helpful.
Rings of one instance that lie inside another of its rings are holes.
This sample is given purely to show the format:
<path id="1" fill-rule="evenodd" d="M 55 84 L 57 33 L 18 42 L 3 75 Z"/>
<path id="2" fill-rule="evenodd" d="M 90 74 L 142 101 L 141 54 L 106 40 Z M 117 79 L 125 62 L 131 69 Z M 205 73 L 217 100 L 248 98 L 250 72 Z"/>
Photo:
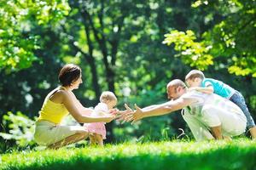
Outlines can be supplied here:
<path id="1" fill-rule="evenodd" d="M 34 25 L 48 25 L 68 14 L 66 0 L 0 2 L 0 68 L 17 71 L 28 68 L 37 59 L 38 37 Z"/>

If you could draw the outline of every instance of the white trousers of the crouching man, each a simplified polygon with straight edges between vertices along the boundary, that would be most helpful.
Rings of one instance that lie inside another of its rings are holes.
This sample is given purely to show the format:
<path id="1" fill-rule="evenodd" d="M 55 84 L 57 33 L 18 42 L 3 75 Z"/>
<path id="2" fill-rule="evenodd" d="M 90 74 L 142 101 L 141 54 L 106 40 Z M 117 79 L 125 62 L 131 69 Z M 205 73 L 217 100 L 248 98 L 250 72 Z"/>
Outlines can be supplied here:
<path id="1" fill-rule="evenodd" d="M 188 123 L 195 140 L 214 139 L 211 127 L 221 126 L 224 136 L 237 136 L 244 133 L 247 126 L 246 116 L 214 105 L 203 105 L 201 113 L 191 114 L 188 109 L 182 111 L 183 119 Z"/>

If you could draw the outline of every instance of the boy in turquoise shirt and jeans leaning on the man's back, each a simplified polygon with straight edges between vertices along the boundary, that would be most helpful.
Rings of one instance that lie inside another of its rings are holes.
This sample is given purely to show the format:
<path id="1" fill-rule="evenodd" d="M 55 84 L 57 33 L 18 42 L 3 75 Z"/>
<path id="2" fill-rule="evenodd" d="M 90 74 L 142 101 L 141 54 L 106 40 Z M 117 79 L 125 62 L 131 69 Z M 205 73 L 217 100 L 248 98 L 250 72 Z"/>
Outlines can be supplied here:
<path id="1" fill-rule="evenodd" d="M 205 78 L 204 74 L 198 70 L 189 71 L 189 74 L 185 77 L 185 81 L 190 90 L 197 90 L 207 94 L 218 94 L 226 99 L 230 99 L 230 101 L 238 105 L 247 117 L 247 128 L 251 133 L 252 139 L 256 139 L 256 127 L 253 117 L 248 111 L 245 100 L 240 92 L 231 88 L 224 82 L 212 78 Z"/>

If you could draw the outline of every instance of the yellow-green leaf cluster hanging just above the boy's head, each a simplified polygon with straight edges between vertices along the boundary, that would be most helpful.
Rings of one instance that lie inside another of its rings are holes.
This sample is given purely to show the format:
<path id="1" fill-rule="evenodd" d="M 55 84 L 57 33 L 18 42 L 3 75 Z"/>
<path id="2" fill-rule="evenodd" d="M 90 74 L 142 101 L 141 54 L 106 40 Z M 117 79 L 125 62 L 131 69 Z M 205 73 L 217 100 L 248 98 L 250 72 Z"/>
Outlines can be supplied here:
<path id="1" fill-rule="evenodd" d="M 212 46 L 206 45 L 205 42 L 195 42 L 196 37 L 193 31 L 174 30 L 165 37 L 163 43 L 167 45 L 174 43 L 174 49 L 179 52 L 176 56 L 181 57 L 185 64 L 202 71 L 207 69 L 208 65 L 213 65 L 213 57 L 208 53 Z"/>

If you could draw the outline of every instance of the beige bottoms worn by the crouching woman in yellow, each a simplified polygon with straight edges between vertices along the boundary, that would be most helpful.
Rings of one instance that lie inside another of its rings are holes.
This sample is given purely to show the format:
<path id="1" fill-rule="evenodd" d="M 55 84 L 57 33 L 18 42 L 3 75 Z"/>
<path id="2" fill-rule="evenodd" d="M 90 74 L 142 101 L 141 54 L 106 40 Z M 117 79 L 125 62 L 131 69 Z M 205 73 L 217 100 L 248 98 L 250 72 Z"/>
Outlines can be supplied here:
<path id="1" fill-rule="evenodd" d="M 79 132 L 86 131 L 81 126 L 62 126 L 49 121 L 38 121 L 36 122 L 34 139 L 38 144 L 49 145 Z"/>

